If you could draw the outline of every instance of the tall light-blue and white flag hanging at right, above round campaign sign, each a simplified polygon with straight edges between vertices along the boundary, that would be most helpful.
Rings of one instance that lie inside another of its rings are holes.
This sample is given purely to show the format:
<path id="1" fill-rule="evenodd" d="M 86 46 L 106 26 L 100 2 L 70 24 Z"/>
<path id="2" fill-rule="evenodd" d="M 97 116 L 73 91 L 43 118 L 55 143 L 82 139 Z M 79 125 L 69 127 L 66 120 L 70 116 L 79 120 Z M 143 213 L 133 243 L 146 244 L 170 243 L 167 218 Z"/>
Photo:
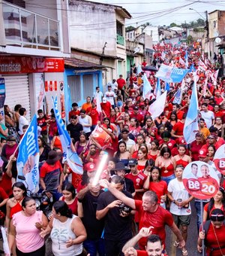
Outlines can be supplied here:
<path id="1" fill-rule="evenodd" d="M 187 142 L 187 144 L 193 142 L 195 140 L 196 133 L 199 132 L 198 117 L 199 117 L 199 105 L 198 105 L 198 97 L 197 97 L 197 90 L 196 90 L 196 74 L 195 74 L 192 94 L 190 97 L 190 107 L 188 108 L 187 117 L 184 123 L 184 139 Z"/>

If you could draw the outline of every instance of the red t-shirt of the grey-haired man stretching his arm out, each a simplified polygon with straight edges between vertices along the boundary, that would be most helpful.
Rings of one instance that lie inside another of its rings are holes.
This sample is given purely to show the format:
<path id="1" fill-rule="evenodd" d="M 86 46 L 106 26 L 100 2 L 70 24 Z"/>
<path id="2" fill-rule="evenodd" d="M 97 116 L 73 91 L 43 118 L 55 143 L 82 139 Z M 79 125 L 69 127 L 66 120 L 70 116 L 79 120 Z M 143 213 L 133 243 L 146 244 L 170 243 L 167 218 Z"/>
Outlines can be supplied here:
<path id="1" fill-rule="evenodd" d="M 163 209 L 161 206 L 157 206 L 157 210 L 155 212 L 147 212 L 142 208 L 142 201 L 135 200 L 135 208 L 139 213 L 139 230 L 142 227 L 154 227 L 152 229 L 152 233 L 158 235 L 162 241 L 162 244 L 165 248 L 165 240 L 166 240 L 166 230 L 165 226 L 168 225 L 172 227 L 174 223 L 172 214 L 166 209 Z M 145 245 L 147 244 L 147 237 L 143 237 L 139 239 L 139 248 L 144 250 Z"/>

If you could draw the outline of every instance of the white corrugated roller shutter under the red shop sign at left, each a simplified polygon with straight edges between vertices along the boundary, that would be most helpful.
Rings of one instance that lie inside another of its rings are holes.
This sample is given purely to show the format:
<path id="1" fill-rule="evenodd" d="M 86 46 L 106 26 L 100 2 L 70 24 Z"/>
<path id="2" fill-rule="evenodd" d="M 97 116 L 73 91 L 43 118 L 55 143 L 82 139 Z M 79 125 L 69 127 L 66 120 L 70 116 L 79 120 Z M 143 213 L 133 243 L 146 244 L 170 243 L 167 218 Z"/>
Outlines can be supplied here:
<path id="1" fill-rule="evenodd" d="M 11 110 L 20 104 L 26 108 L 26 118 L 31 120 L 30 96 L 28 87 L 28 75 L 2 75 L 5 78 L 6 99 L 5 105 L 9 105 Z"/>

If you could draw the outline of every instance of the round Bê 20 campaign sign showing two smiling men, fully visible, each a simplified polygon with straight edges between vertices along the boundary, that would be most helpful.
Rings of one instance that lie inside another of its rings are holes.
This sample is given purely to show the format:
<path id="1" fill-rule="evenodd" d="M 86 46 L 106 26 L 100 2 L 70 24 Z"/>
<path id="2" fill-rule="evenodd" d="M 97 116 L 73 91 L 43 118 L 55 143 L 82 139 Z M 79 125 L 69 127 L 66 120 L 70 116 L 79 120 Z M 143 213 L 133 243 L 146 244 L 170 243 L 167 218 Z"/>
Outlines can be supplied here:
<path id="1" fill-rule="evenodd" d="M 210 199 L 220 187 L 214 169 L 202 161 L 188 163 L 183 172 L 183 183 L 187 192 L 198 199 Z"/>

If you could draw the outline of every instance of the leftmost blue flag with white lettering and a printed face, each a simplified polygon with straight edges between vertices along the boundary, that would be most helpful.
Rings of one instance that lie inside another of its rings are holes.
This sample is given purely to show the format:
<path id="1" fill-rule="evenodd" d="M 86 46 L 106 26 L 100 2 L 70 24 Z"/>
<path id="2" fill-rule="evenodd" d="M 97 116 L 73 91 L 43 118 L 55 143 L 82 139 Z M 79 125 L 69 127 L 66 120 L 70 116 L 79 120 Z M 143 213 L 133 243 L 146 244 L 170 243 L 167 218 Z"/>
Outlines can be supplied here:
<path id="1" fill-rule="evenodd" d="M 25 176 L 31 192 L 39 190 L 39 147 L 37 142 L 37 116 L 34 114 L 26 133 L 20 141 L 17 157 L 18 175 Z M 17 181 L 21 181 L 17 178 Z"/>

